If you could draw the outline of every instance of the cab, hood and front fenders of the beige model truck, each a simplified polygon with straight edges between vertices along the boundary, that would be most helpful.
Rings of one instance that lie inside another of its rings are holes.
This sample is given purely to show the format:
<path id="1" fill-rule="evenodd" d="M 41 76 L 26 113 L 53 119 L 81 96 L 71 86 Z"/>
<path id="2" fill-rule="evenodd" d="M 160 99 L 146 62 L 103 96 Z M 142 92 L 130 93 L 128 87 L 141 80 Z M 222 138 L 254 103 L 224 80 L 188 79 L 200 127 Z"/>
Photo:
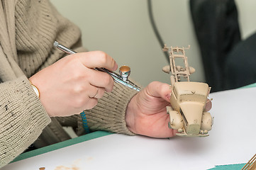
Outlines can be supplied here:
<path id="1" fill-rule="evenodd" d="M 179 131 L 178 136 L 208 136 L 212 118 L 204 112 L 210 88 L 208 84 L 192 81 L 176 82 L 172 86 L 169 128 Z M 179 123 L 176 123 L 174 120 Z"/>

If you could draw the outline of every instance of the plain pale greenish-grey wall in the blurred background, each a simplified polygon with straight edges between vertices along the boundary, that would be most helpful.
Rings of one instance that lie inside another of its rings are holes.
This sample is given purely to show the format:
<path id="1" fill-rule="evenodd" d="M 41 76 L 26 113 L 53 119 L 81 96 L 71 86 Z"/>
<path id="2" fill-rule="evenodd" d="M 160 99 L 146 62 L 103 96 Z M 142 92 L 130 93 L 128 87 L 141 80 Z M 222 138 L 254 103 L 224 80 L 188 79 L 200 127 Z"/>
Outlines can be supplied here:
<path id="1" fill-rule="evenodd" d="M 82 30 L 84 47 L 111 55 L 118 66 L 130 66 L 131 76 L 146 86 L 151 81 L 170 84 L 165 55 L 153 33 L 145 0 L 51 0 L 60 13 Z M 255 0 L 236 0 L 243 38 L 256 30 Z M 204 81 L 199 46 L 189 13 L 189 0 L 153 0 L 157 28 L 168 46 L 187 47 L 192 81 Z"/>

